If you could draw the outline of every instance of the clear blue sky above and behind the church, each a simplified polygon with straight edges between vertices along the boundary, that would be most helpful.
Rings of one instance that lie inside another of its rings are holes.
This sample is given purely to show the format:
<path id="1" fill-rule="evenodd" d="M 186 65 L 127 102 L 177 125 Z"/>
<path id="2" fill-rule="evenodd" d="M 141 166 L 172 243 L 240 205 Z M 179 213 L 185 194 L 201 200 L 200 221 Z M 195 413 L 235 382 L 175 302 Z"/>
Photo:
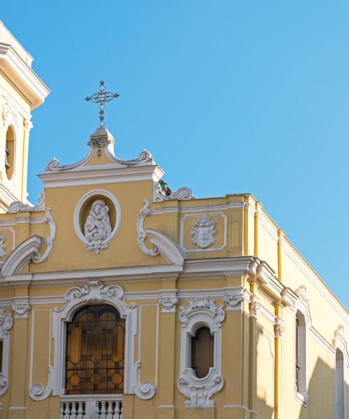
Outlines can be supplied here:
<path id="1" fill-rule="evenodd" d="M 348 1 L 75 0 L 1 4 L 52 93 L 34 111 L 36 174 L 87 152 L 99 80 L 116 153 L 146 148 L 172 189 L 251 192 L 349 305 Z M 339 269 L 341 267 L 341 269 Z"/>

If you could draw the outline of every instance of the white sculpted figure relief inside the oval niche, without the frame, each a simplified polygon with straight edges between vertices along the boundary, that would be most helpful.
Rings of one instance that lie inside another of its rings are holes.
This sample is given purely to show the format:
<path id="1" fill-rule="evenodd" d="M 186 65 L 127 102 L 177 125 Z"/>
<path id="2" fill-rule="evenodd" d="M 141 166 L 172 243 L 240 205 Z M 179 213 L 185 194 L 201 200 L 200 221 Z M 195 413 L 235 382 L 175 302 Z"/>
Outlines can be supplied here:
<path id="1" fill-rule="evenodd" d="M 111 234 L 109 207 L 103 200 L 95 200 L 84 224 L 85 248 L 98 255 L 107 249 Z"/>

